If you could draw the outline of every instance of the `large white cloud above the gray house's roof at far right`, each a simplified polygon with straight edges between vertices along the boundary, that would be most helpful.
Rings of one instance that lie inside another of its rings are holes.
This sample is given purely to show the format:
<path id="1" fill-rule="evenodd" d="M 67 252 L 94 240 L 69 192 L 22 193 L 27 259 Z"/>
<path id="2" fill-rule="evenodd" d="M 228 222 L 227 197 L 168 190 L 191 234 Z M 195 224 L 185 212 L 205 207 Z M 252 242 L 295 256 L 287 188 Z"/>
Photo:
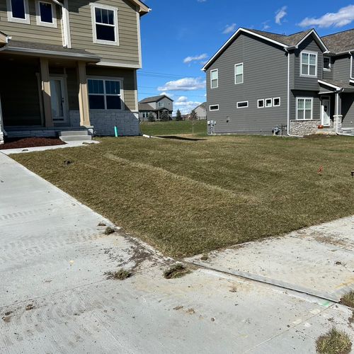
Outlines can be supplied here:
<path id="1" fill-rule="evenodd" d="M 343 27 L 354 21 L 354 5 L 349 5 L 339 9 L 335 13 L 326 13 L 319 18 L 304 18 L 299 25 L 301 27 L 319 26 L 322 28 L 334 26 Z"/>

